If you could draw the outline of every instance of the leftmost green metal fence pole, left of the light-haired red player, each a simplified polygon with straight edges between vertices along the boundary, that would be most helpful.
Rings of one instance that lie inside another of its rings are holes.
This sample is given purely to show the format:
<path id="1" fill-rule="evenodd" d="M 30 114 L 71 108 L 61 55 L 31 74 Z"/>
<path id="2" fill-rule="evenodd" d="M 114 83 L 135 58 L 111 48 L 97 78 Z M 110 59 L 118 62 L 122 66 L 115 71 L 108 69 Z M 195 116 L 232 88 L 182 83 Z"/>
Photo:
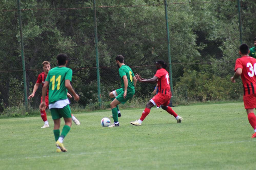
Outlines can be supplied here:
<path id="1" fill-rule="evenodd" d="M 21 34 L 21 59 L 22 59 L 22 69 L 23 69 L 25 107 L 26 107 L 26 110 L 28 110 L 27 80 L 26 80 L 26 68 L 25 68 L 24 45 L 23 45 L 23 36 L 22 36 L 22 21 L 21 21 L 21 3 L 19 0 L 17 0 L 17 4 L 18 4 L 18 13 L 19 13 L 19 30 Z"/>

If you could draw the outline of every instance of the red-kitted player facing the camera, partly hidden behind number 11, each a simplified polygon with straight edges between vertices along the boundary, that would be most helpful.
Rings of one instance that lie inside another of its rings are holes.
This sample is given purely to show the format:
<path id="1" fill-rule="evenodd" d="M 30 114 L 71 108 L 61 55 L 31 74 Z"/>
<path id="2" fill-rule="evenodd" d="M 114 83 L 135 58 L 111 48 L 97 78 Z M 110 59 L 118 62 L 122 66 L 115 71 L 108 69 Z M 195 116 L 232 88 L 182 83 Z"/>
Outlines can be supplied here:
<path id="1" fill-rule="evenodd" d="M 31 98 L 33 98 L 34 97 L 34 95 L 35 95 L 35 93 L 36 93 L 36 91 L 37 91 L 37 89 L 38 89 L 38 87 L 39 87 L 39 85 L 42 83 L 42 86 L 44 86 L 44 83 L 45 83 L 45 79 L 46 79 L 46 77 L 47 77 L 47 74 L 48 74 L 48 72 L 50 71 L 50 69 L 51 69 L 51 66 L 50 66 L 50 62 L 48 62 L 48 61 L 44 61 L 43 63 L 43 70 L 44 70 L 44 72 L 41 72 L 39 75 L 38 75 L 38 77 L 37 77 L 37 81 L 36 81 L 36 84 L 35 84 L 35 86 L 34 86 L 34 88 L 33 88 L 33 92 L 32 92 L 32 94 L 30 95 L 30 96 L 28 96 L 28 99 L 31 99 Z M 47 89 L 47 93 L 46 93 L 46 96 L 45 96 L 45 104 L 46 104 L 46 108 L 48 107 L 48 105 L 49 105 L 49 99 L 48 99 L 48 89 Z M 67 96 L 69 97 L 69 98 L 72 98 L 72 96 L 69 94 L 69 93 L 67 93 Z M 42 103 L 42 97 L 41 97 L 41 103 Z M 45 109 L 46 109 L 45 108 Z M 45 112 L 45 110 L 40 110 L 40 113 L 41 113 L 41 117 L 42 117 L 42 119 L 43 119 L 43 121 L 44 121 L 44 126 L 42 126 L 41 128 L 47 128 L 47 127 L 49 127 L 49 124 L 48 124 L 48 120 L 47 120 L 47 115 L 46 115 L 46 112 Z M 76 119 L 76 117 L 75 116 L 73 116 L 72 115 L 72 120 L 73 120 L 73 122 L 76 124 L 76 125 L 80 125 L 80 122 Z"/>

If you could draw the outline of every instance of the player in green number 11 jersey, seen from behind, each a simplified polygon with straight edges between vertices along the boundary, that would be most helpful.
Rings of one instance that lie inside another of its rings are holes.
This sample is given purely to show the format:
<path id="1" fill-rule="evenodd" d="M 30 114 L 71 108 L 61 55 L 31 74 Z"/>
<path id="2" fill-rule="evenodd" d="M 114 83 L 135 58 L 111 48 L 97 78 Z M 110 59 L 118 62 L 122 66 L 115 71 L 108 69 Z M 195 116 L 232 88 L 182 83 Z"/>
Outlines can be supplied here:
<path id="1" fill-rule="evenodd" d="M 72 80 L 72 70 L 66 67 L 67 55 L 58 54 L 57 56 L 58 67 L 51 69 L 45 80 L 45 84 L 42 90 L 42 103 L 40 109 L 45 109 L 45 95 L 47 88 L 49 87 L 49 109 L 54 121 L 54 136 L 57 146 L 57 152 L 67 152 L 63 145 L 63 139 L 70 130 L 72 119 L 71 111 L 69 107 L 69 100 L 67 98 L 67 91 L 71 92 L 74 96 L 74 100 L 78 101 L 79 96 L 73 90 L 70 82 Z M 64 118 L 65 125 L 60 135 L 60 118 Z"/>

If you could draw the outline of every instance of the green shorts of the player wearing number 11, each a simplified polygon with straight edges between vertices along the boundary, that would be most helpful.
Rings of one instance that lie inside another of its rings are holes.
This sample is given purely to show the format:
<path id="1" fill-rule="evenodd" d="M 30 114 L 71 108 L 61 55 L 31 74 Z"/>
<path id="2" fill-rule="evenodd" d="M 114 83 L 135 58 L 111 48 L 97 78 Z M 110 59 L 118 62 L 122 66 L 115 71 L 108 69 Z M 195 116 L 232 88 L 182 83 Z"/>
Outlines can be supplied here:
<path id="1" fill-rule="evenodd" d="M 62 117 L 71 118 L 71 110 L 69 104 L 63 108 L 51 108 L 50 111 L 53 119 L 60 119 Z"/>

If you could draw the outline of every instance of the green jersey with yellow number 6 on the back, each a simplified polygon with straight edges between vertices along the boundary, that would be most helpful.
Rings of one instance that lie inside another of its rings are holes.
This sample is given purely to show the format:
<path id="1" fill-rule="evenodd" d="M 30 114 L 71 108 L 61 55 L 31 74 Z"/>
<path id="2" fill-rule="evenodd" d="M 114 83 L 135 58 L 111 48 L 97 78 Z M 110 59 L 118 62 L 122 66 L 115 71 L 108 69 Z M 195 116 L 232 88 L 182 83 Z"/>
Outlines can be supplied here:
<path id="1" fill-rule="evenodd" d="M 135 91 L 134 82 L 133 82 L 134 74 L 133 74 L 131 68 L 127 65 L 122 65 L 118 71 L 119 71 L 119 76 L 121 78 L 121 85 L 122 85 L 123 90 L 125 89 L 123 76 L 127 76 L 127 79 L 128 79 L 127 91 L 128 90 Z"/>

